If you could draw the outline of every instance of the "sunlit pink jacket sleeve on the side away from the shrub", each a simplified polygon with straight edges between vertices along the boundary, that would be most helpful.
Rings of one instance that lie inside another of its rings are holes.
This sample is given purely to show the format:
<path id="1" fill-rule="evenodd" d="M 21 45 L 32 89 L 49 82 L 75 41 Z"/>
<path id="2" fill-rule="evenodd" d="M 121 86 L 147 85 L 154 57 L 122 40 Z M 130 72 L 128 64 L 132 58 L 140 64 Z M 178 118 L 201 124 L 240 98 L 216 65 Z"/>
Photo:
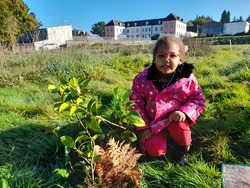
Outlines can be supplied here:
<path id="1" fill-rule="evenodd" d="M 189 120 L 191 120 L 190 123 L 192 125 L 195 124 L 196 119 L 205 109 L 206 99 L 194 75 L 191 75 L 191 77 L 192 79 L 188 87 L 190 95 L 188 96 L 187 101 L 183 103 L 177 110 L 184 112 Z"/>

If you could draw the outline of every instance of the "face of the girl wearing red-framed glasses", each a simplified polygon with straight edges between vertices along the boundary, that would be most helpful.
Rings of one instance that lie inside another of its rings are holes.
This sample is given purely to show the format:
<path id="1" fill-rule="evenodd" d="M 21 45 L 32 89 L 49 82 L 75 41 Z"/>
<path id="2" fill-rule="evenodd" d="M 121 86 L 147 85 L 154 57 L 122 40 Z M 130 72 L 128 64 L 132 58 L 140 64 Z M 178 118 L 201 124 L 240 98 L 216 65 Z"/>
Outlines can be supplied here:
<path id="1" fill-rule="evenodd" d="M 175 72 L 178 65 L 183 62 L 179 47 L 173 43 L 160 44 L 157 48 L 154 63 L 160 74 L 168 75 Z"/>

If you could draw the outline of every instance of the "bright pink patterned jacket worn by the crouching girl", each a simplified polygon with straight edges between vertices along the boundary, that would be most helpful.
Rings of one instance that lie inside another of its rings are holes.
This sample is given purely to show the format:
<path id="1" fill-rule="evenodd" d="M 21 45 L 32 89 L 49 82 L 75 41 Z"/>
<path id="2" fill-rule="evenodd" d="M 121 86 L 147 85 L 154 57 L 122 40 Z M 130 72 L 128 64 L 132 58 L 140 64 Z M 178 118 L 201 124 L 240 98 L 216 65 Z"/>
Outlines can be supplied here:
<path id="1" fill-rule="evenodd" d="M 136 129 L 151 127 L 154 133 L 158 133 L 171 123 L 166 114 L 176 110 L 186 114 L 190 125 L 195 124 L 205 109 L 206 101 L 193 73 L 159 92 L 153 81 L 147 79 L 148 72 L 149 67 L 134 78 L 129 97 L 135 102 L 131 109 L 138 111 L 146 123 Z"/>

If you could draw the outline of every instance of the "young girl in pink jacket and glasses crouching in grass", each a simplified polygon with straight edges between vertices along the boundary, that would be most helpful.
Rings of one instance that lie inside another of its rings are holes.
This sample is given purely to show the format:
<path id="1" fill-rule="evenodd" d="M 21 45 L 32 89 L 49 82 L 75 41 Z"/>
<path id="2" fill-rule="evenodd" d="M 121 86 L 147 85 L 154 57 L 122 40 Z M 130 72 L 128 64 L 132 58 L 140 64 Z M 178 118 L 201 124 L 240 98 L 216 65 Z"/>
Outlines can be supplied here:
<path id="1" fill-rule="evenodd" d="M 162 36 L 153 48 L 153 63 L 133 81 L 130 100 L 146 125 L 136 127 L 146 154 L 166 154 L 167 136 L 176 143 L 174 162 L 185 166 L 186 152 L 192 138 L 190 126 L 205 108 L 202 94 L 192 70 L 184 62 L 187 49 L 182 40 Z"/>

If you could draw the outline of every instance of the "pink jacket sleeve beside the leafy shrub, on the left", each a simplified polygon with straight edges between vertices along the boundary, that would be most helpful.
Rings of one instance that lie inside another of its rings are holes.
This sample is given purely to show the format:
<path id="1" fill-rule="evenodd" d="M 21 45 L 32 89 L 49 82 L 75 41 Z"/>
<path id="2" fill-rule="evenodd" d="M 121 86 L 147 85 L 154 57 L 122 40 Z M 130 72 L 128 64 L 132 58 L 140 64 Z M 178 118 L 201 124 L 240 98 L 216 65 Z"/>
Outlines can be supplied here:
<path id="1" fill-rule="evenodd" d="M 131 110 L 136 110 L 137 112 L 139 112 L 146 124 L 144 127 L 136 127 L 136 129 L 144 130 L 150 128 L 150 118 L 148 117 L 146 111 L 147 100 L 143 92 L 143 84 L 140 76 L 136 76 L 133 81 L 129 100 L 134 102 L 133 105 L 131 106 Z"/>

